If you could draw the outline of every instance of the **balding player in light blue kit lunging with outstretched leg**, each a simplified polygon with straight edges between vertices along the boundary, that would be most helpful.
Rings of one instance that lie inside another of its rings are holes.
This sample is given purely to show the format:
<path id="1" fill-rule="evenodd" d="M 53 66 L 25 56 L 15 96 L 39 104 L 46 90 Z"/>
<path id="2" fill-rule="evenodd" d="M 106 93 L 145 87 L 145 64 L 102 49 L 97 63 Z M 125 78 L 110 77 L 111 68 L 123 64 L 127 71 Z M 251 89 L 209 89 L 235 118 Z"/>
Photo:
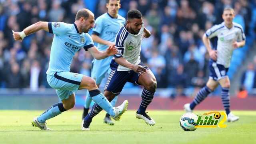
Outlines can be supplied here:
<path id="1" fill-rule="evenodd" d="M 75 105 L 75 92 L 80 89 L 88 89 L 92 100 L 106 110 L 114 120 L 119 120 L 128 106 L 127 100 L 114 108 L 110 102 L 100 93 L 95 80 L 82 74 L 70 72 L 70 64 L 75 52 L 84 48 L 96 59 L 103 59 L 117 53 L 113 46 L 106 51 L 99 51 L 93 44 L 92 38 L 87 33 L 94 26 L 94 14 L 88 9 L 81 9 L 76 14 L 74 24 L 64 22 L 37 22 L 25 28 L 22 32 L 13 32 L 14 40 L 22 40 L 25 36 L 45 30 L 53 33 L 50 64 L 46 72 L 48 84 L 56 89 L 56 93 L 62 102 L 52 105 L 40 116 L 34 118 L 32 125 L 41 130 L 47 128 L 46 120 L 69 110 Z M 82 122 L 82 130 L 84 128 Z"/>

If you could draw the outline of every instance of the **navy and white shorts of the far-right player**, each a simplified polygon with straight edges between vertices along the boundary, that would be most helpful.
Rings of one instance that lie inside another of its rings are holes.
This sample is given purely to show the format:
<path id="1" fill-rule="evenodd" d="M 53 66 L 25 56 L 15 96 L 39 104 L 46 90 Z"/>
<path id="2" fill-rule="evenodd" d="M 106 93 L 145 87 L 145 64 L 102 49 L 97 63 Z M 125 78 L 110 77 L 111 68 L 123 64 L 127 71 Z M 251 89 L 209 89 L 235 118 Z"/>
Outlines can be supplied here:
<path id="1" fill-rule="evenodd" d="M 209 68 L 210 68 L 210 78 L 213 80 L 220 80 L 222 78 L 227 77 L 228 68 L 225 68 L 221 64 L 217 64 L 216 62 L 210 61 L 209 62 Z"/>

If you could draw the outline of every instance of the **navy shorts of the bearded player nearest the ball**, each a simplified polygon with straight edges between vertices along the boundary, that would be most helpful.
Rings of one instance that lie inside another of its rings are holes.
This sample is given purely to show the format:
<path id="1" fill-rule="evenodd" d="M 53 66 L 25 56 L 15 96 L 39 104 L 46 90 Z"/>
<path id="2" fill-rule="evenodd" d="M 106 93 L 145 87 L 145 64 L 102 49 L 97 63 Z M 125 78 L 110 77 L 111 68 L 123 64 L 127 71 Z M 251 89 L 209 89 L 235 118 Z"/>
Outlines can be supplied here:
<path id="1" fill-rule="evenodd" d="M 145 66 L 142 62 L 139 65 L 144 66 L 144 68 L 149 70 L 149 68 Z M 134 72 L 133 70 L 129 70 L 129 71 L 111 70 L 108 76 L 108 80 L 106 82 L 104 91 L 107 90 L 112 92 L 113 94 L 118 95 L 124 88 L 124 84 L 126 84 L 126 82 L 131 82 L 133 84 L 139 85 L 138 84 L 139 76 L 140 74 Z"/>

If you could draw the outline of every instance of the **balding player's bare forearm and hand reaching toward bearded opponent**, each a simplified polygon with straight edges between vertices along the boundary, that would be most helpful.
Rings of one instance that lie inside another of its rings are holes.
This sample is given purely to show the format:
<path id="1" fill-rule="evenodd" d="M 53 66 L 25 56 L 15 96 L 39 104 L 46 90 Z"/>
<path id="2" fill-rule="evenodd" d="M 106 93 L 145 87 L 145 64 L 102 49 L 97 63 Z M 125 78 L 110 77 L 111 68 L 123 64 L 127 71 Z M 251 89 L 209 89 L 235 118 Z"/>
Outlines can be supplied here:
<path id="1" fill-rule="evenodd" d="M 88 51 L 97 60 L 100 60 L 100 59 L 106 58 L 108 56 L 112 56 L 114 54 L 117 54 L 117 48 L 115 48 L 115 45 L 109 46 L 108 49 L 104 52 L 98 50 L 98 48 L 96 48 L 96 46 L 94 46 L 92 48 L 89 48 Z"/>

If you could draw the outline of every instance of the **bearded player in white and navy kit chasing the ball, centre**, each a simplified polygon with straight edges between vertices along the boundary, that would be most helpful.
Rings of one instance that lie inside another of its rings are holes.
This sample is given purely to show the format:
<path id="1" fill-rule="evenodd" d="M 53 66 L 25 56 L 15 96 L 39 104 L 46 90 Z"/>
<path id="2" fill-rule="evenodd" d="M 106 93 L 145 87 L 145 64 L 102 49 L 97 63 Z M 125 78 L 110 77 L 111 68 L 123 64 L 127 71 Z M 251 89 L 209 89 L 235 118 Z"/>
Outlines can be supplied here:
<path id="1" fill-rule="evenodd" d="M 120 94 L 126 82 L 144 86 L 142 101 L 136 112 L 136 118 L 143 119 L 146 124 L 154 125 L 156 122 L 148 116 L 146 108 L 154 98 L 156 78 L 151 70 L 140 61 L 142 38 L 143 36 L 148 38 L 150 35 L 150 32 L 144 28 L 140 11 L 130 10 L 127 14 L 126 24 L 120 28 L 116 35 L 115 43 L 118 54 L 114 55 L 110 63 L 112 71 L 104 88 L 104 96 L 111 101 Z M 86 116 L 90 117 L 90 120 L 86 121 L 87 125 L 101 110 L 96 106 L 92 107 Z"/>

